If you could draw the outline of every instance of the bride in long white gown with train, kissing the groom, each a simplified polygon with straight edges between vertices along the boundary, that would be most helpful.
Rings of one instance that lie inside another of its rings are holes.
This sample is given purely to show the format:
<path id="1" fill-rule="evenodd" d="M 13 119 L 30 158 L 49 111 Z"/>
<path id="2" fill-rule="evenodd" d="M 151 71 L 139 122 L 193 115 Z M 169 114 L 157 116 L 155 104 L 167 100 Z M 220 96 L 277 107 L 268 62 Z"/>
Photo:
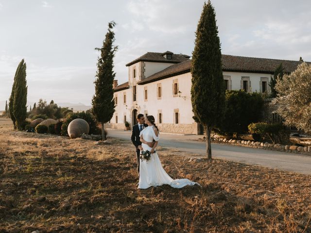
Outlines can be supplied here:
<path id="1" fill-rule="evenodd" d="M 155 151 L 155 147 L 157 146 L 160 139 L 158 129 L 155 125 L 155 117 L 147 116 L 146 118 L 147 119 L 145 123 L 148 125 L 148 127 L 144 128 L 139 134 L 140 141 L 142 143 L 139 149 L 149 150 L 151 152 L 151 158 L 148 161 L 140 159 L 138 188 L 145 189 L 151 186 L 159 186 L 162 184 L 169 184 L 174 188 L 182 188 L 186 185 L 198 184 L 188 179 L 173 180 L 166 173 Z M 155 144 L 153 145 L 152 142 L 154 140 Z"/>

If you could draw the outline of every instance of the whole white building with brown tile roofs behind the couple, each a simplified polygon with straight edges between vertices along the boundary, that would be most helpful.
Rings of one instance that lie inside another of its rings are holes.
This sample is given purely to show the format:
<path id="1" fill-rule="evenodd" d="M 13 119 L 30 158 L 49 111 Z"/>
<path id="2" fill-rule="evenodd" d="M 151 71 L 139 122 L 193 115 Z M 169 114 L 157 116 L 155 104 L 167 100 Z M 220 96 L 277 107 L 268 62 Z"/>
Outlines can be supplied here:
<path id="1" fill-rule="evenodd" d="M 282 63 L 292 72 L 301 63 L 265 58 L 222 55 L 223 75 L 228 90 L 268 92 L 274 70 Z M 153 115 L 162 132 L 200 134 L 202 127 L 192 116 L 190 56 L 147 52 L 126 64 L 128 82 L 115 80 L 115 113 L 108 128 L 124 129 L 125 121 L 136 124 L 136 116 Z"/>

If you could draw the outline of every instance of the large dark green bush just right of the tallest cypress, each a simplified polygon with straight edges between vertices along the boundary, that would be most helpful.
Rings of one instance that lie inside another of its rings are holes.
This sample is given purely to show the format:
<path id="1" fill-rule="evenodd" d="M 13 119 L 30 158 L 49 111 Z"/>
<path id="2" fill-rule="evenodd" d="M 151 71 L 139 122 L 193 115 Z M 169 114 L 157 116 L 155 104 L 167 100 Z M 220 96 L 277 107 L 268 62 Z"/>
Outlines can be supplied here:
<path id="1" fill-rule="evenodd" d="M 244 91 L 226 91 L 225 118 L 219 122 L 215 131 L 224 135 L 247 133 L 247 126 L 260 120 L 263 98 L 260 93 Z"/>

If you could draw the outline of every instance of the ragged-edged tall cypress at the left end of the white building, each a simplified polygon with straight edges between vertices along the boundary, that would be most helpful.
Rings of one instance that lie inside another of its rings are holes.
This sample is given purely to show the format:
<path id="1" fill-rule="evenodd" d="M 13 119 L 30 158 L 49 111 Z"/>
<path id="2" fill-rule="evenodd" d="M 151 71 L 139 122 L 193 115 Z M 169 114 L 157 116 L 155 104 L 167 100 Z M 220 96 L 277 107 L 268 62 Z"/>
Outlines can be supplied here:
<path id="1" fill-rule="evenodd" d="M 108 32 L 103 41 L 102 48 L 95 48 L 101 52 L 97 61 L 97 72 L 95 83 L 95 94 L 92 99 L 92 113 L 97 121 L 102 124 L 102 140 L 106 140 L 104 123 L 108 122 L 115 112 L 115 101 L 113 99 L 113 80 L 116 73 L 113 71 L 113 58 L 118 46 L 114 46 L 115 33 L 112 29 L 116 26 L 114 21 L 108 23 Z"/>

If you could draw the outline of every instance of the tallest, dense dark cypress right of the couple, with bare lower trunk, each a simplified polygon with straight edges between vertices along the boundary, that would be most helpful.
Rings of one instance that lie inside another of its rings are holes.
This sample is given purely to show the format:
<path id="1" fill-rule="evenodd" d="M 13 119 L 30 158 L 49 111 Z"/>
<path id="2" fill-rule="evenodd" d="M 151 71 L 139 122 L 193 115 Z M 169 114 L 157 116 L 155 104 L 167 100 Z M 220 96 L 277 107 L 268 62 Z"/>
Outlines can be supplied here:
<path id="1" fill-rule="evenodd" d="M 215 11 L 204 3 L 198 23 L 191 65 L 193 118 L 206 129 L 207 158 L 211 159 L 210 133 L 225 113 L 225 81 Z"/>

